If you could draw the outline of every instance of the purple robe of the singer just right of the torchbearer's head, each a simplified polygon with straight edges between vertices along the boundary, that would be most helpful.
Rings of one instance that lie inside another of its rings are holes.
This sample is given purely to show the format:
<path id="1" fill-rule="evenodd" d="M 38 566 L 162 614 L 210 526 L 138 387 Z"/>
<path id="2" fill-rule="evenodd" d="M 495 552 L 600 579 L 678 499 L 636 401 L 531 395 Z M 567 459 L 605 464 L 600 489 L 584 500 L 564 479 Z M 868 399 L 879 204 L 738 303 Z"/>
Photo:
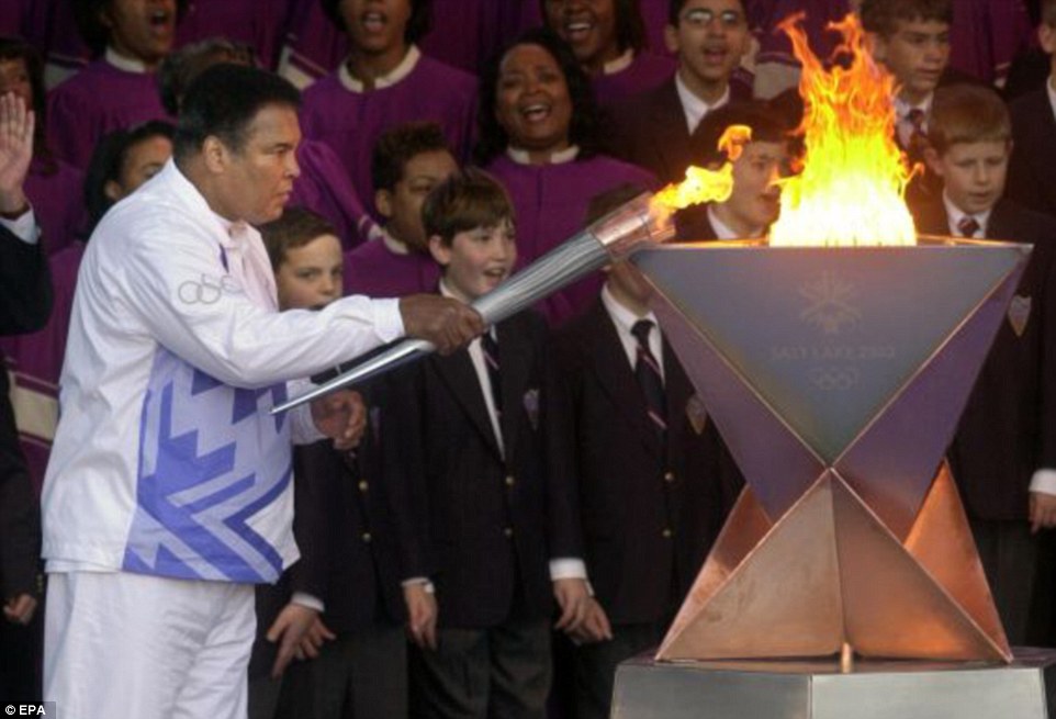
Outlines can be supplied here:
<path id="1" fill-rule="evenodd" d="M 476 119 L 476 79 L 422 55 L 406 77 L 389 87 L 355 92 L 340 70 L 304 91 L 301 126 L 306 137 L 329 145 L 345 164 L 360 198 L 373 198 L 370 158 L 386 130 L 411 121 L 434 121 L 465 159 Z"/>

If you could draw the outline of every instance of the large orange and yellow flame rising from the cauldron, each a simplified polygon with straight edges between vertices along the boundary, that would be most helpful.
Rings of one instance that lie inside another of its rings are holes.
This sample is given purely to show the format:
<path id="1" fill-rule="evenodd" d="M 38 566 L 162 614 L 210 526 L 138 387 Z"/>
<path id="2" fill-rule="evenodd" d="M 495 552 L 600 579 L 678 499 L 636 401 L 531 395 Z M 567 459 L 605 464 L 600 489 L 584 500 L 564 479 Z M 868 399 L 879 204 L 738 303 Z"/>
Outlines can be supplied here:
<path id="1" fill-rule="evenodd" d="M 825 70 L 799 27 L 802 13 L 779 27 L 802 64 L 806 156 L 802 173 L 782 182 L 780 217 L 771 245 L 914 245 L 917 232 L 906 206 L 912 177 L 895 143 L 895 79 L 879 68 L 851 14 L 831 23 L 843 35 L 838 52 L 849 67 Z"/>

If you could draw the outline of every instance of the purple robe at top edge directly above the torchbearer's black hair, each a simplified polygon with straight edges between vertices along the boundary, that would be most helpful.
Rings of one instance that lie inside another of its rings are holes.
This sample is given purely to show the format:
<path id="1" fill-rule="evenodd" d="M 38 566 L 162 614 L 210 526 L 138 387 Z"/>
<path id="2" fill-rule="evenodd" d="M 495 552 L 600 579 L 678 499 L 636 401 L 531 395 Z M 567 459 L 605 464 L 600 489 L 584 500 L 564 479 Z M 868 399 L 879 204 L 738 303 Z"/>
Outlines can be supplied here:
<path id="1" fill-rule="evenodd" d="M 291 0 L 191 0 L 177 27 L 176 46 L 226 37 L 250 45 L 263 67 L 274 68 Z M 315 7 L 318 2 L 302 4 Z"/>

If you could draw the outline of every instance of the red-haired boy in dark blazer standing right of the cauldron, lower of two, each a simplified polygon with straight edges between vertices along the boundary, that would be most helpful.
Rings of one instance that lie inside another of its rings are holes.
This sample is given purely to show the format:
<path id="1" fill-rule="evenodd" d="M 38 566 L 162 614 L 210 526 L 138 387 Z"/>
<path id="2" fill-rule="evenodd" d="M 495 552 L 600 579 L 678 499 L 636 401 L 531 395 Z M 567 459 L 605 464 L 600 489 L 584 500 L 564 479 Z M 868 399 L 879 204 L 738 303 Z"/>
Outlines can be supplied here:
<path id="1" fill-rule="evenodd" d="M 1022 644 L 1049 603 L 1035 586 L 1037 532 L 1056 526 L 1056 221 L 1001 199 L 1011 128 L 993 90 L 937 90 L 929 141 L 944 187 L 914 207 L 918 231 L 1034 246 L 948 452 L 998 613 Z"/>

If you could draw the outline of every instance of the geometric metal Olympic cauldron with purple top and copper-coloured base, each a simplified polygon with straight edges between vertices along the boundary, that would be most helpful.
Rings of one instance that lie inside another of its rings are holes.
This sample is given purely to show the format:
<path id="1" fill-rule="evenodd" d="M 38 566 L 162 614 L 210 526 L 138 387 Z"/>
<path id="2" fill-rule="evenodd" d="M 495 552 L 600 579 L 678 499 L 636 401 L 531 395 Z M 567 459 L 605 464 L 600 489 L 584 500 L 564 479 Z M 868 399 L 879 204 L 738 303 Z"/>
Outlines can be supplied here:
<path id="1" fill-rule="evenodd" d="M 633 257 L 748 483 L 658 659 L 1012 659 L 943 453 L 1029 255 L 924 237 Z"/>

